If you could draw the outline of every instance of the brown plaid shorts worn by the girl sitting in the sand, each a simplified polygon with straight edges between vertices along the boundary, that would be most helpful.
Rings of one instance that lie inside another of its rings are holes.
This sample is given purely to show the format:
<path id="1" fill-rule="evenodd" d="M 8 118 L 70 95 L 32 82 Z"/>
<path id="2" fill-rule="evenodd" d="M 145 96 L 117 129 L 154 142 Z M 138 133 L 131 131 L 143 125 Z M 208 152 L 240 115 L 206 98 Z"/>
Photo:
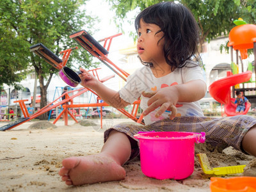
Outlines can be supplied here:
<path id="1" fill-rule="evenodd" d="M 150 125 L 141 125 L 137 123 L 118 124 L 104 132 L 104 142 L 108 140 L 109 133 L 115 129 L 124 132 L 137 142 L 132 146 L 130 160 L 140 154 L 140 143 L 134 138 L 134 134 L 139 131 L 184 131 L 184 132 L 205 132 L 205 143 L 212 147 L 218 147 L 223 150 L 227 147 L 234 147 L 241 152 L 243 150 L 241 143 L 246 132 L 256 124 L 256 118 L 246 115 L 229 116 L 224 118 L 214 118 L 205 116 L 180 116 L 173 120 L 164 119 L 154 122 Z"/>

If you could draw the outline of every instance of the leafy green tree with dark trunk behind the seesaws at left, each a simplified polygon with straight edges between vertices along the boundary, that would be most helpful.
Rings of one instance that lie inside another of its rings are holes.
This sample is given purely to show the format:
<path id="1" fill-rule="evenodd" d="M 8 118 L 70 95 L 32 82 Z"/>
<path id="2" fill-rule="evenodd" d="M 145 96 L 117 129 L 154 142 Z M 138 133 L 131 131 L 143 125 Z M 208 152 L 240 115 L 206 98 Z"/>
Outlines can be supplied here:
<path id="1" fill-rule="evenodd" d="M 29 51 L 31 45 L 42 43 L 56 55 L 77 44 L 69 35 L 86 26 L 90 33 L 95 22 L 79 9 L 86 0 L 1 0 L 0 1 L 0 85 L 14 85 L 28 72 L 35 70 L 40 82 L 40 107 L 47 104 L 47 88 L 58 70 Z M 89 26 L 90 24 L 90 26 Z M 79 49 L 70 54 L 67 65 L 95 67 L 92 56 Z M 61 58 L 62 56 L 60 56 Z M 46 114 L 40 116 L 45 119 Z"/>

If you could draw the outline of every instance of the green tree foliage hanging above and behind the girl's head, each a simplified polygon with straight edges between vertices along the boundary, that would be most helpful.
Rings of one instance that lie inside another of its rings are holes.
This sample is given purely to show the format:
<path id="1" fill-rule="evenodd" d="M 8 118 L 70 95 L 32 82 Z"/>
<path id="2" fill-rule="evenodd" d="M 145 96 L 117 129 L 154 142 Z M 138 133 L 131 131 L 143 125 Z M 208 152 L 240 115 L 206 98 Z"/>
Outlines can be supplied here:
<path id="1" fill-rule="evenodd" d="M 131 10 L 146 7 L 161 2 L 160 0 L 108 0 L 120 20 L 126 19 Z M 255 0 L 178 0 L 191 10 L 195 16 L 198 26 L 202 30 L 200 42 L 212 40 L 217 36 L 227 35 L 234 28 L 233 20 L 239 17 L 248 23 L 256 23 L 256 1 Z M 118 25 L 120 25 L 118 23 Z M 120 25 L 122 27 L 122 24 Z"/>

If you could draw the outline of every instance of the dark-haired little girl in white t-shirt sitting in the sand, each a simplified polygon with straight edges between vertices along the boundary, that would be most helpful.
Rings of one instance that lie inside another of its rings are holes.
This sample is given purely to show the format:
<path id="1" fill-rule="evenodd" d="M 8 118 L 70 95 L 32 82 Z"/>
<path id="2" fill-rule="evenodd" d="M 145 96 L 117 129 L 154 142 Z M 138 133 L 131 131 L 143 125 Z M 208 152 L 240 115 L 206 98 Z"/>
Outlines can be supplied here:
<path id="1" fill-rule="evenodd" d="M 83 68 L 82 85 L 114 108 L 124 108 L 141 96 L 145 126 L 118 124 L 104 132 L 99 154 L 63 159 L 59 174 L 67 185 L 125 178 L 122 165 L 140 154 L 133 135 L 139 131 L 206 132 L 214 147 L 232 146 L 256 156 L 256 119 L 204 117 L 197 100 L 206 92 L 198 63 L 199 29 L 182 4 L 164 2 L 143 10 L 135 20 L 138 55 L 146 65 L 127 78 L 119 92 L 110 90 Z"/>

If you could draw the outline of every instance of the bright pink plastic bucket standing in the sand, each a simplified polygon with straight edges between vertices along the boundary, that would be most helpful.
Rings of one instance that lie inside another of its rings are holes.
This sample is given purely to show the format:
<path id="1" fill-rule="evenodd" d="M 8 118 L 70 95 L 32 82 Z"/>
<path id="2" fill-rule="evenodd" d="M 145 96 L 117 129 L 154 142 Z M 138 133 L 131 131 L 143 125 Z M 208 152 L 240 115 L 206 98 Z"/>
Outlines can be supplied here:
<path id="1" fill-rule="evenodd" d="M 141 171 L 156 179 L 185 179 L 194 171 L 195 143 L 205 132 L 143 132 L 140 140 Z"/>

